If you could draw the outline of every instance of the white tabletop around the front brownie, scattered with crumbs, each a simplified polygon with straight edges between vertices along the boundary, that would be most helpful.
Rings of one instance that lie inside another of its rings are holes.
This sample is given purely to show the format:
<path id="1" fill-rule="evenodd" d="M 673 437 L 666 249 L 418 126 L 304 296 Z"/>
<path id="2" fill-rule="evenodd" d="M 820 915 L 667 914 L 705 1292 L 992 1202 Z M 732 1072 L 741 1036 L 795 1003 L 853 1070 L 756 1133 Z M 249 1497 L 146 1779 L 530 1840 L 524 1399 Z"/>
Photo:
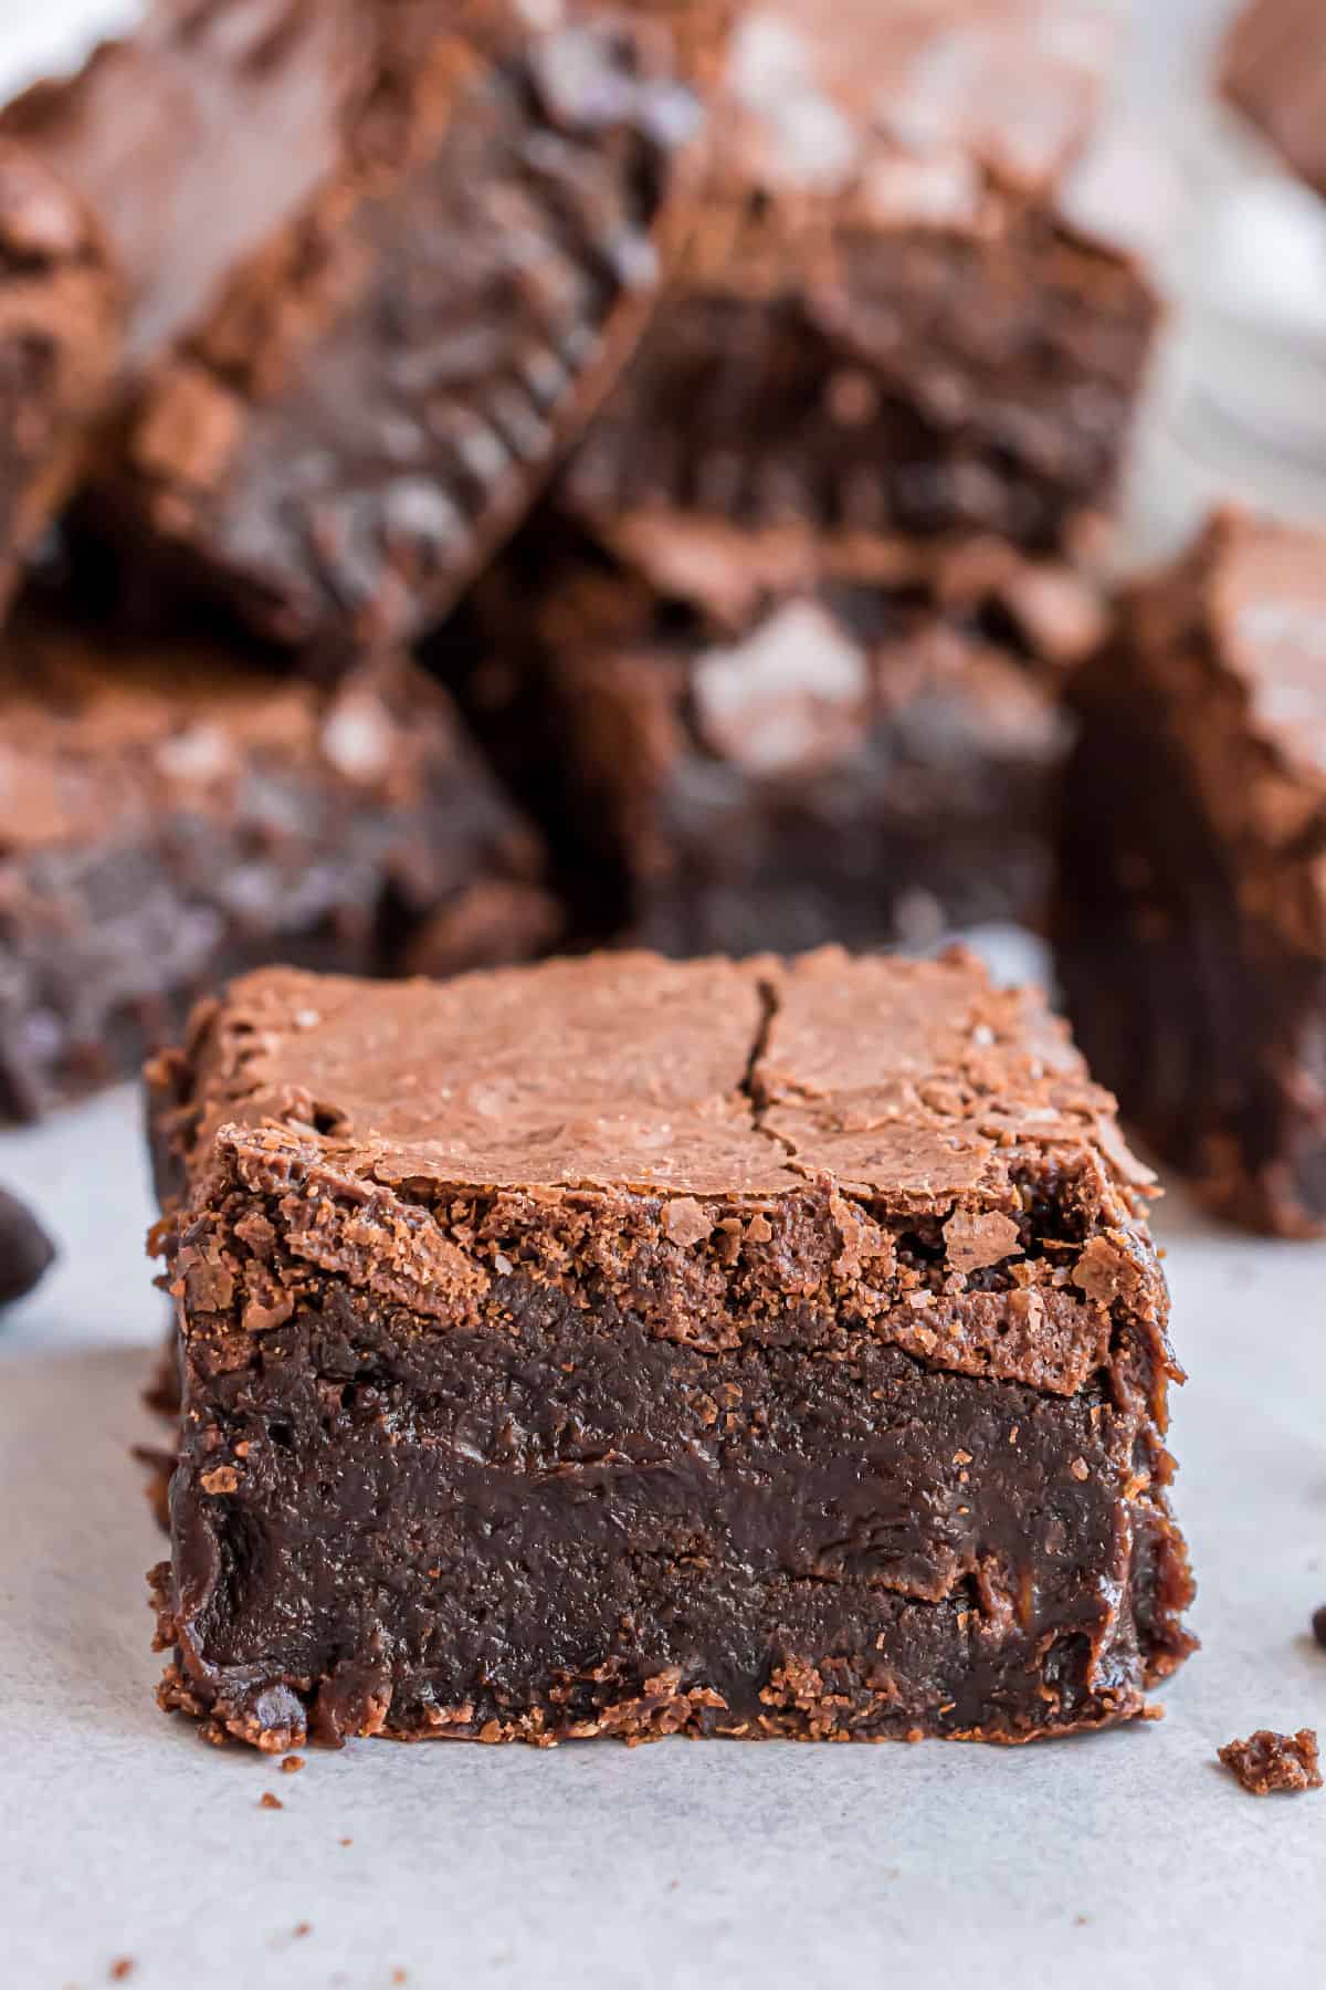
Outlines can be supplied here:
<path id="1" fill-rule="evenodd" d="M 1161 1220 L 1205 1640 L 1165 1721 L 1028 1749 L 360 1741 L 282 1775 L 151 1701 L 137 1100 L 6 1134 L 0 1180 L 66 1246 L 0 1327 L 6 1990 L 115 1956 L 135 1990 L 1322 1980 L 1326 1793 L 1254 1801 L 1215 1749 L 1326 1731 L 1326 1248 Z"/>

